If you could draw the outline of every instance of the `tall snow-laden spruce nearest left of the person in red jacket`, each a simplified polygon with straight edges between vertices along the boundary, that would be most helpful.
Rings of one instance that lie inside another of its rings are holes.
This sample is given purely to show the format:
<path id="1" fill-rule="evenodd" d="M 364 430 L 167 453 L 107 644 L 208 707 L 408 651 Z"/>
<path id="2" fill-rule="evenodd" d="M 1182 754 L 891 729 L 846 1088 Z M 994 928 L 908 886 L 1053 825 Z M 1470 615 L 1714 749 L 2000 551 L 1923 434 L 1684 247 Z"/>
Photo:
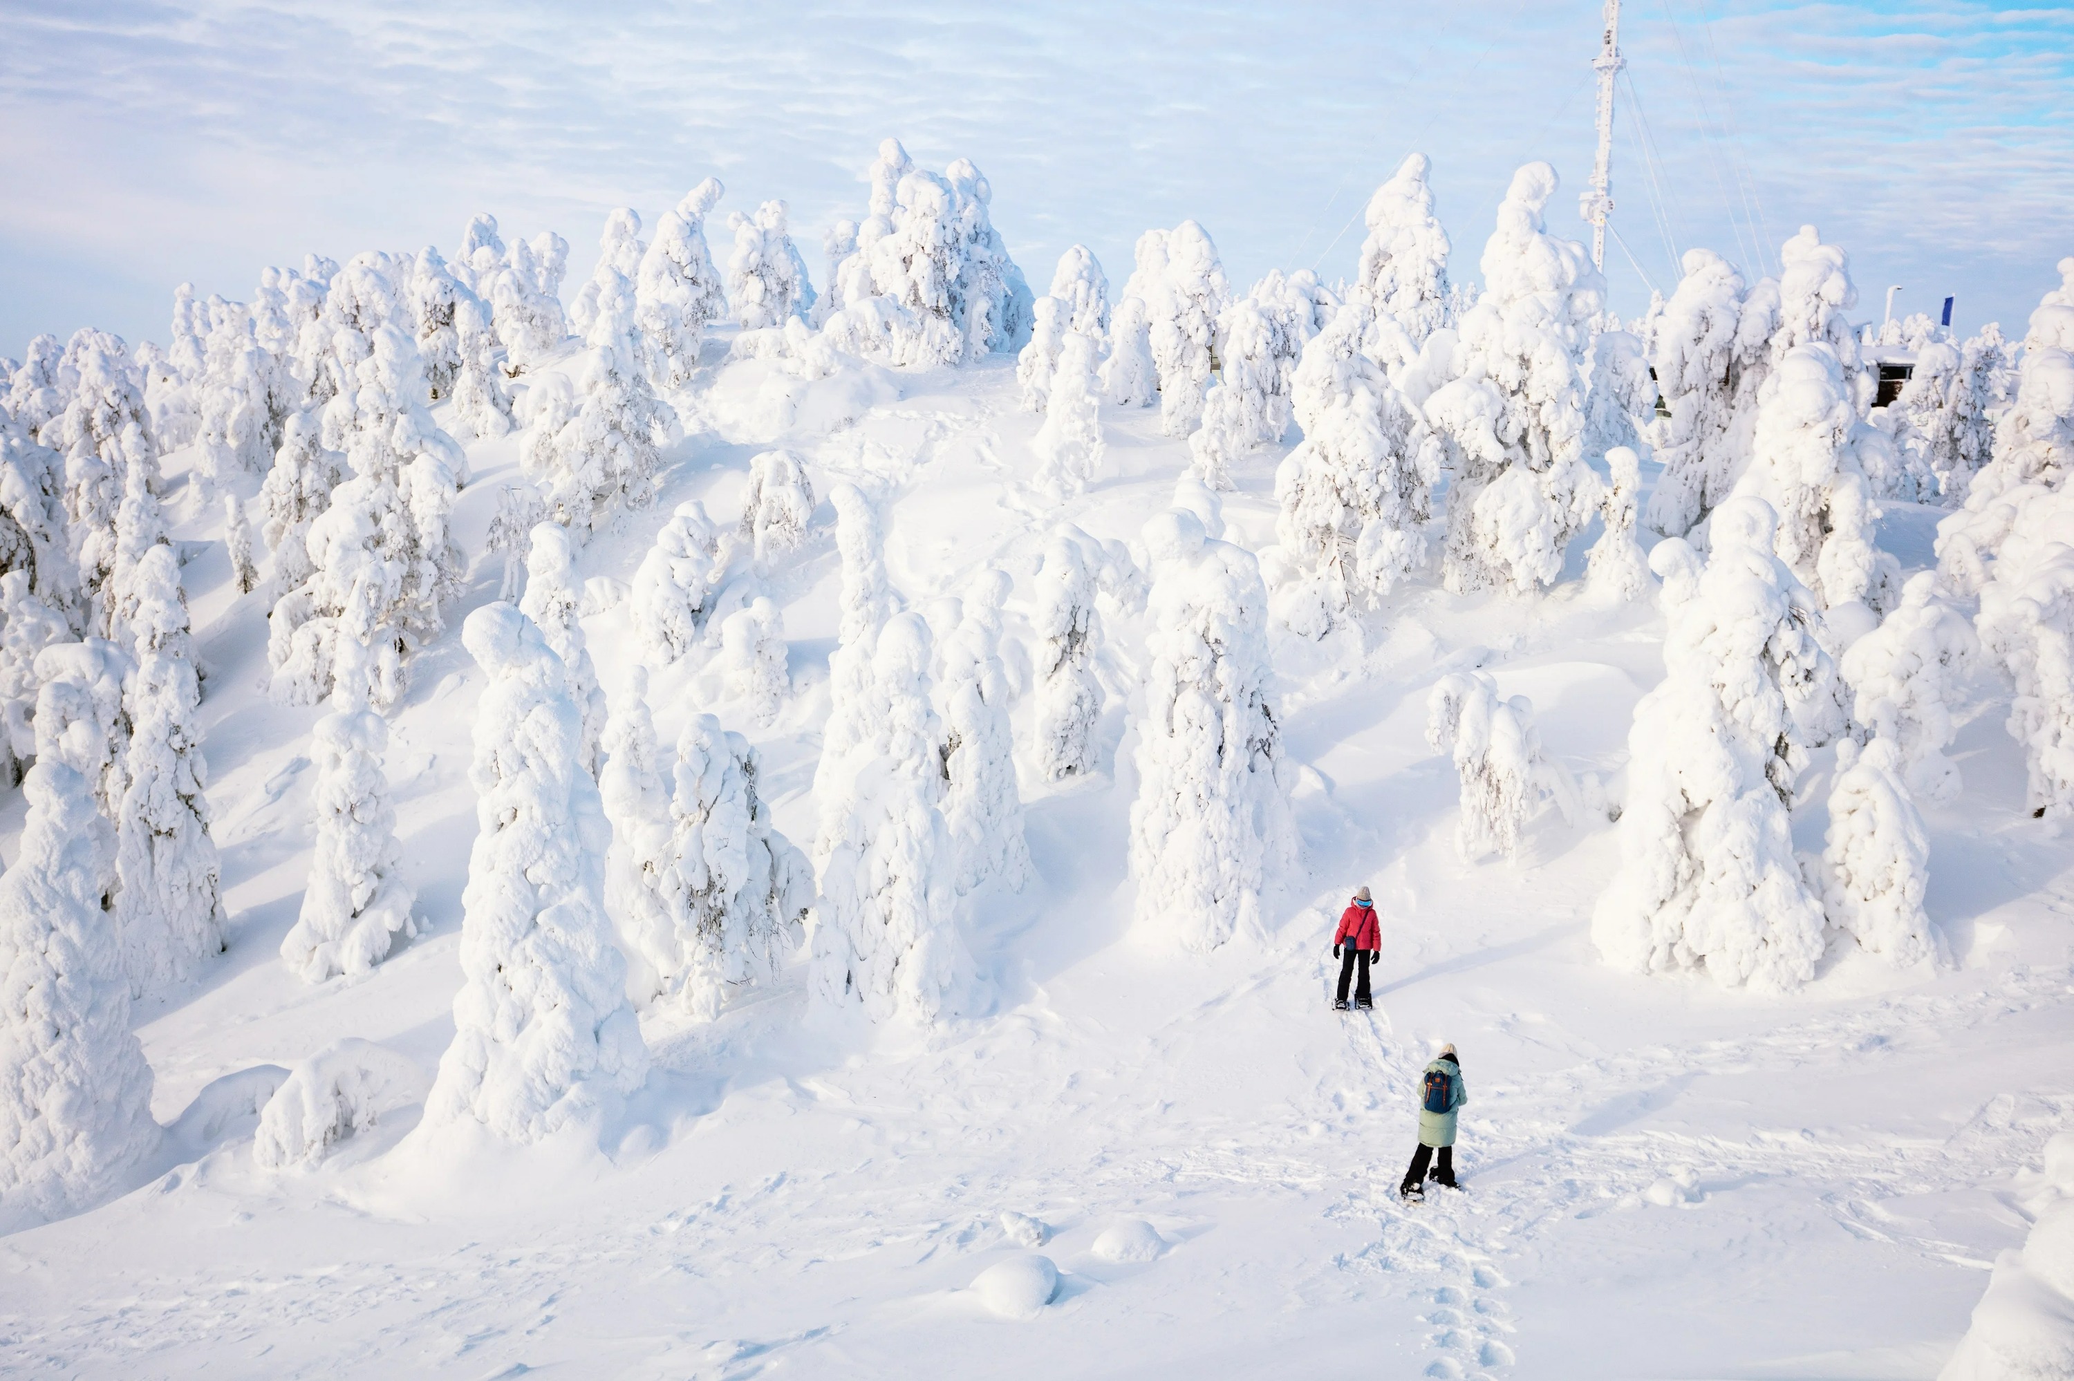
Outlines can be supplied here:
<path id="1" fill-rule="evenodd" d="M 1207 952 L 1263 927 L 1296 863 L 1282 730 L 1267 703 L 1267 591 L 1242 547 L 1193 512 L 1145 525 L 1151 666 L 1130 805 L 1134 925 Z"/>

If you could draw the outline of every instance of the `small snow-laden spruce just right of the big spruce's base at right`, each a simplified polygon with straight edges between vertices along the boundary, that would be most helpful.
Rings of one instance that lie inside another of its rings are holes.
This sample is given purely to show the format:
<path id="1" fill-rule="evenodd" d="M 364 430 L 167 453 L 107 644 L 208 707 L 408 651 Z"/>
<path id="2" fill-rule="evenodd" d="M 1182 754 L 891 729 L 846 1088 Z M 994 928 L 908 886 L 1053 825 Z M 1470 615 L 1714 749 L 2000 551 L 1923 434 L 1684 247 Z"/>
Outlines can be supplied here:
<path id="1" fill-rule="evenodd" d="M 1935 954 L 1923 914 L 1931 838 L 1902 784 L 1902 755 L 1885 738 L 1858 751 L 1835 744 L 1829 788 L 1829 836 L 1821 854 L 1823 908 L 1829 923 L 1896 968 Z"/>

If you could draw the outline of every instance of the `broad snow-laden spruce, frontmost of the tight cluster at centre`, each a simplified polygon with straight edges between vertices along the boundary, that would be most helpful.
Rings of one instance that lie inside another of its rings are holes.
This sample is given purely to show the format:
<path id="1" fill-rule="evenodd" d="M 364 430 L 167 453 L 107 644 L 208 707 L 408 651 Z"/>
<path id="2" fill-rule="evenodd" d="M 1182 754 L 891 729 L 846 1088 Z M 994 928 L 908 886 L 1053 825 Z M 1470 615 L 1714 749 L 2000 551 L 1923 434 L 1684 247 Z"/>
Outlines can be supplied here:
<path id="1" fill-rule="evenodd" d="M 854 738 L 832 755 L 830 734 L 815 776 L 821 902 L 809 985 L 815 1002 L 861 1006 L 871 1020 L 935 1022 L 975 1002 L 929 659 L 921 614 L 894 614 L 877 628 L 867 688 L 852 705 Z"/>

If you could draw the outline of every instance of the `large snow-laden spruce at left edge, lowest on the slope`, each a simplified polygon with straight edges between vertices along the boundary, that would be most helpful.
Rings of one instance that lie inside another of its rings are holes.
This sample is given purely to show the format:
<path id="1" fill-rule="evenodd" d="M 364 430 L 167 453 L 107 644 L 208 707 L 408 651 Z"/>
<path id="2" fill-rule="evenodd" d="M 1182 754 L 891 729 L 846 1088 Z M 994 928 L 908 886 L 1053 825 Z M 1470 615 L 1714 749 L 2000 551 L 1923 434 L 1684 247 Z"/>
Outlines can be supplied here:
<path id="1" fill-rule="evenodd" d="M 29 817 L 0 877 L 0 1228 L 89 1209 L 151 1157 L 151 1066 L 131 1033 L 102 912 L 108 823 L 56 757 L 23 782 Z"/>

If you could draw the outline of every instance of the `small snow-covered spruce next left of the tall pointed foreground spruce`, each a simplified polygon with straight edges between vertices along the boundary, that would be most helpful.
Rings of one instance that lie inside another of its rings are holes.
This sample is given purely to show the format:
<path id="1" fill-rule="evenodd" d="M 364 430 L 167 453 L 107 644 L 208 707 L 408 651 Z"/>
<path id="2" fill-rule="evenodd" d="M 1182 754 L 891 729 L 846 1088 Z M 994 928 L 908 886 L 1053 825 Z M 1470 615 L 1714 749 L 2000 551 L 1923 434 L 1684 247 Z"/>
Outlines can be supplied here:
<path id="1" fill-rule="evenodd" d="M 311 757 L 317 838 L 303 910 L 280 941 L 280 958 L 307 983 L 363 975 L 388 958 L 396 931 L 417 935 L 417 892 L 402 879 L 396 811 L 388 802 L 382 715 L 336 709 L 317 720 Z"/>

